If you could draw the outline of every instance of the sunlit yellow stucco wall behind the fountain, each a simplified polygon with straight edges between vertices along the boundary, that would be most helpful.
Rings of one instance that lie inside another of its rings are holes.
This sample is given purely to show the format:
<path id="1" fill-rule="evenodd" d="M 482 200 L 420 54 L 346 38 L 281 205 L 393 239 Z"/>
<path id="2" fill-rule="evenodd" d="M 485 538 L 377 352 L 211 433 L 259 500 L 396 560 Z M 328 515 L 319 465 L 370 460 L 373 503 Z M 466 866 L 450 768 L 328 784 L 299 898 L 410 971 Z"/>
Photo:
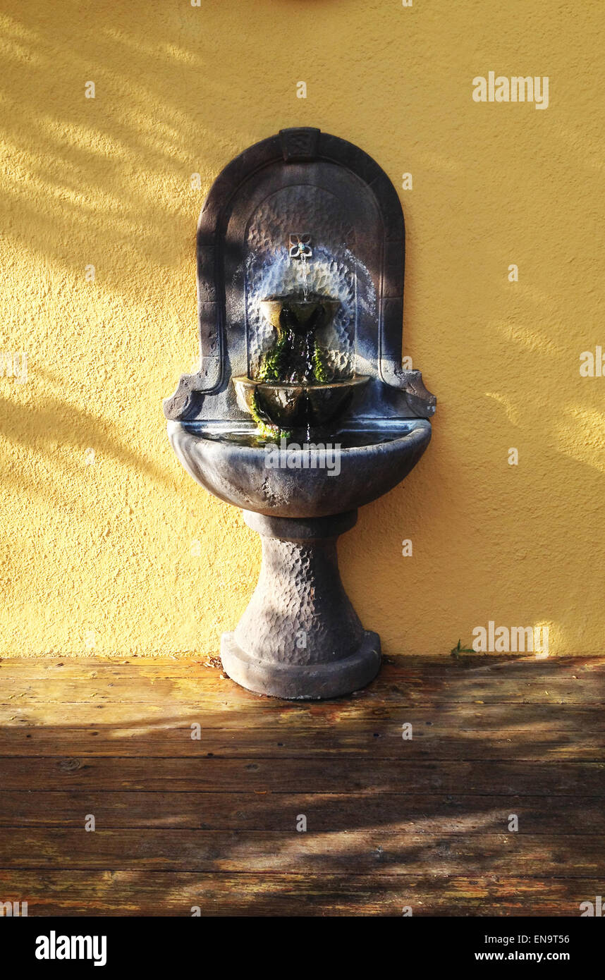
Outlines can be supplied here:
<path id="1" fill-rule="evenodd" d="M 292 125 L 413 175 L 404 348 L 438 406 L 341 538 L 364 624 L 391 655 L 490 619 L 602 652 L 602 0 L 9 0 L 0 24 L 0 351 L 27 354 L 0 377 L 0 655 L 214 654 L 244 609 L 259 540 L 177 464 L 162 399 L 195 362 L 206 192 Z M 474 102 L 489 71 L 548 75 L 548 108 Z"/>

